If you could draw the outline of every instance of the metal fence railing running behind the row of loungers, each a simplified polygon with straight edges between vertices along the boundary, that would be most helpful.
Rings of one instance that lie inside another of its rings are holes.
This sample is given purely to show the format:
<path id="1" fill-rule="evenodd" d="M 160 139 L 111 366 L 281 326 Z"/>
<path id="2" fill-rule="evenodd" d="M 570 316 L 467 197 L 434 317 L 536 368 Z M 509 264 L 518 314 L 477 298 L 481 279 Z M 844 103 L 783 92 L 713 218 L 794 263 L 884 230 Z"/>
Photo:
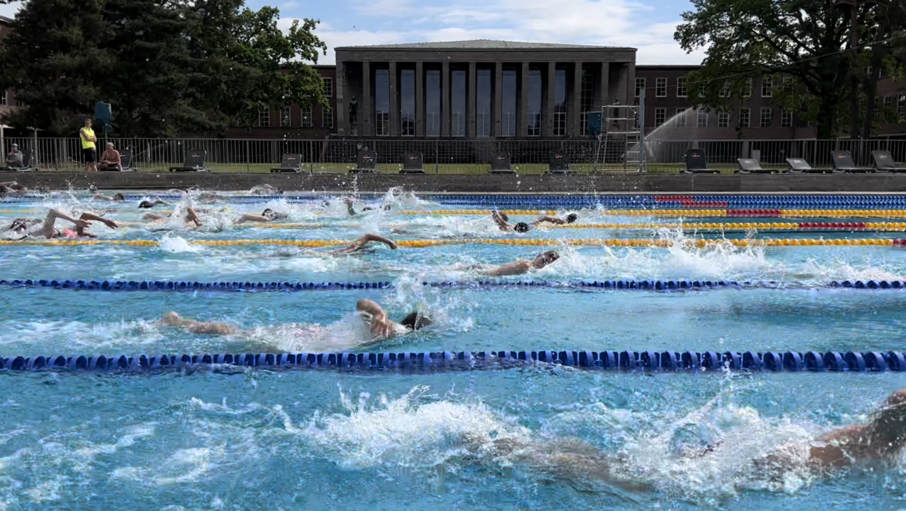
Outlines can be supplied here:
<path id="1" fill-rule="evenodd" d="M 381 169 L 399 169 L 409 151 L 423 155 L 427 172 L 469 173 L 489 168 L 492 155 L 504 152 L 514 168 L 531 173 L 547 168 L 548 155 L 558 151 L 579 170 L 620 168 L 626 158 L 625 140 L 243 140 L 243 139 L 125 139 L 111 138 L 117 149 L 132 151 L 133 166 L 161 170 L 181 166 L 186 153 L 207 150 L 213 170 L 261 172 L 277 166 L 284 153 L 302 155 L 305 169 L 345 171 L 356 166 L 359 151 L 373 150 Z M 5 138 L 4 154 L 13 143 L 32 151 L 32 163 L 41 169 L 77 170 L 83 166 L 77 138 Z M 895 161 L 906 161 L 906 140 L 646 140 L 648 168 L 679 169 L 688 149 L 702 150 L 708 164 L 735 167 L 739 158 L 757 158 L 765 166 L 785 166 L 787 158 L 804 158 L 813 167 L 830 165 L 831 151 L 845 149 L 859 166 L 872 165 L 872 150 L 885 149 Z M 638 151 L 630 150 L 631 159 Z"/>

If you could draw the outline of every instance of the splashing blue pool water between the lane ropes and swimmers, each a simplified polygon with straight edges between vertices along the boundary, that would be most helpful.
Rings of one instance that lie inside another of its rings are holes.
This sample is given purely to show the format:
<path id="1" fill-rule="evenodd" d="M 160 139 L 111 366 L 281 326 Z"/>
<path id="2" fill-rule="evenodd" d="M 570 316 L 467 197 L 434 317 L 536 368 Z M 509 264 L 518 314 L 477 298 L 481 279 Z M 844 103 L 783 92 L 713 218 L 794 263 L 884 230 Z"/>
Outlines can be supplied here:
<path id="1" fill-rule="evenodd" d="M 497 230 L 487 216 L 400 215 L 400 208 L 440 207 L 413 197 L 394 198 L 389 211 L 355 218 L 345 214 L 342 204 L 325 208 L 318 201 L 193 201 L 206 210 L 206 225 L 197 230 L 148 227 L 141 220 L 144 211 L 134 203 L 95 202 L 78 194 L 0 205 L 4 222 L 42 217 L 48 207 L 110 209 L 108 216 L 136 225 L 115 230 L 93 226 L 101 239 L 159 241 L 158 246 L 2 246 L 0 278 L 395 285 L 291 294 L 0 286 L 0 355 L 398 348 L 906 350 L 901 333 L 906 292 L 823 286 L 832 280 L 903 279 L 906 263 L 898 247 L 467 244 L 396 251 L 378 246 L 361 255 L 325 257 L 294 246 L 192 242 L 352 240 L 366 232 L 396 240 L 682 241 L 719 235 L 574 228 L 512 235 Z M 242 213 L 260 213 L 264 207 L 287 214 L 287 222 L 320 227 L 232 225 Z M 605 208 L 579 214 L 582 223 L 677 221 L 613 217 Z M 474 265 L 505 264 L 550 248 L 562 258 L 528 278 L 752 279 L 775 280 L 786 289 L 655 293 L 421 285 L 426 280 L 474 281 L 484 278 Z M 361 298 L 384 305 L 391 318 L 419 309 L 435 323 L 418 333 L 371 343 L 353 314 Z M 160 318 L 170 311 L 231 323 L 237 332 L 214 336 L 167 327 Z M 159 374 L 0 373 L 5 390 L 0 401 L 5 408 L 0 414 L 0 506 L 168 511 L 900 509 L 906 506 L 906 465 L 900 459 L 825 477 L 802 465 L 781 476 L 766 474 L 753 468 L 753 461 L 784 445 L 807 445 L 829 429 L 864 423 L 880 401 L 904 386 L 906 377 L 893 371 L 651 375 L 525 367 L 361 374 L 228 367 Z M 707 456 L 689 455 L 707 445 L 716 446 Z M 570 449 L 584 458 L 565 465 L 551 458 L 550 451 Z M 548 458 L 526 458 L 526 452 L 544 452 Z M 606 471 L 605 461 L 617 477 L 599 477 Z"/>

